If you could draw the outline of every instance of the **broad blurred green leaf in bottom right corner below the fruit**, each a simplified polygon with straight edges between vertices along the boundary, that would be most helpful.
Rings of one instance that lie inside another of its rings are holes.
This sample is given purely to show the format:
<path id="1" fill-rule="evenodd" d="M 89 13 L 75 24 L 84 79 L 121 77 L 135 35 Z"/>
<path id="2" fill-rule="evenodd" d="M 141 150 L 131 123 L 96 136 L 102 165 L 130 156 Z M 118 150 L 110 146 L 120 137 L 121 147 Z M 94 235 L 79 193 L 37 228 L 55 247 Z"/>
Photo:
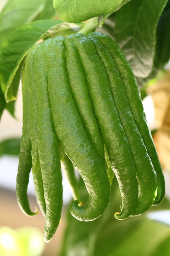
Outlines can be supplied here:
<path id="1" fill-rule="evenodd" d="M 110 223 L 107 228 L 100 233 L 94 256 L 151 256 L 158 244 L 170 238 L 169 226 L 139 217 Z"/>

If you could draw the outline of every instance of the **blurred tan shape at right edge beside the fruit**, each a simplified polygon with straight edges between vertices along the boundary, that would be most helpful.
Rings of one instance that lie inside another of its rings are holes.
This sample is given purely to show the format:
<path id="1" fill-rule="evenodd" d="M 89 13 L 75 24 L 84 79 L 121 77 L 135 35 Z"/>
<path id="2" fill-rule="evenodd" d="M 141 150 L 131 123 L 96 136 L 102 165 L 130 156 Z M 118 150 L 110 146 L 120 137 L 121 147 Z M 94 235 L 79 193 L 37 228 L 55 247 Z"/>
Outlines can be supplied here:
<path id="1" fill-rule="evenodd" d="M 154 143 L 162 168 L 170 171 L 170 71 L 164 78 L 148 88 L 155 106 L 155 122 L 158 131 Z"/>

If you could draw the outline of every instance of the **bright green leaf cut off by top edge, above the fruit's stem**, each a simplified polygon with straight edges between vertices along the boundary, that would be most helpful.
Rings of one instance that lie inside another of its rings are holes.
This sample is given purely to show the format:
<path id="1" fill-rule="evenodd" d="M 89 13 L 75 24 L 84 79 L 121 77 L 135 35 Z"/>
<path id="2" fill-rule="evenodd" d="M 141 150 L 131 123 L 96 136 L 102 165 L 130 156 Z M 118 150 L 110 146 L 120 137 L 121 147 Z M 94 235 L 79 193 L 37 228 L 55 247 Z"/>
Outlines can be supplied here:
<path id="1" fill-rule="evenodd" d="M 103 14 L 113 13 L 129 0 L 53 0 L 53 5 L 61 20 L 82 22 Z"/>

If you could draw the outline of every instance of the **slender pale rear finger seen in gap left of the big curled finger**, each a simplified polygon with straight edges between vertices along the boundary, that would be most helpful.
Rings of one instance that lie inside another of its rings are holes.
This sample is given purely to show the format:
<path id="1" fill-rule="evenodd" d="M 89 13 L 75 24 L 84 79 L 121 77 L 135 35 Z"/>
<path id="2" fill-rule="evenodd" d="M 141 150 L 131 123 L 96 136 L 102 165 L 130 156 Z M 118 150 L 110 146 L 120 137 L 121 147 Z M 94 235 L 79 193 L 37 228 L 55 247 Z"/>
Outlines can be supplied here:
<path id="1" fill-rule="evenodd" d="M 61 151 L 61 169 L 70 186 L 71 194 L 74 200 L 80 201 L 79 187 L 77 177 L 74 172 L 74 166 L 66 154 Z"/>

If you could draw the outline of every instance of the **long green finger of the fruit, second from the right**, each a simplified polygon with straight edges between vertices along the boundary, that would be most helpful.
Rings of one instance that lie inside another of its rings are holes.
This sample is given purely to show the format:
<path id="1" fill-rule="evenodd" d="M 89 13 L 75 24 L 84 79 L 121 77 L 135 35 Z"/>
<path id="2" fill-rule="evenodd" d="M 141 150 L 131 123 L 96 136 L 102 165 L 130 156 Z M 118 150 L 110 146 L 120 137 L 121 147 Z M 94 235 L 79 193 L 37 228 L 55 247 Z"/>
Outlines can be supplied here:
<path id="1" fill-rule="evenodd" d="M 146 212 L 154 204 L 157 195 L 157 174 L 134 122 L 125 85 L 116 62 L 110 55 L 109 50 L 100 42 L 99 37 L 95 37 L 93 33 L 91 36 L 89 35 L 89 38 L 104 63 L 120 122 L 130 145 L 139 185 L 138 201 L 134 213 L 139 215 Z"/>

